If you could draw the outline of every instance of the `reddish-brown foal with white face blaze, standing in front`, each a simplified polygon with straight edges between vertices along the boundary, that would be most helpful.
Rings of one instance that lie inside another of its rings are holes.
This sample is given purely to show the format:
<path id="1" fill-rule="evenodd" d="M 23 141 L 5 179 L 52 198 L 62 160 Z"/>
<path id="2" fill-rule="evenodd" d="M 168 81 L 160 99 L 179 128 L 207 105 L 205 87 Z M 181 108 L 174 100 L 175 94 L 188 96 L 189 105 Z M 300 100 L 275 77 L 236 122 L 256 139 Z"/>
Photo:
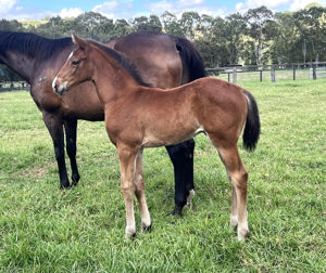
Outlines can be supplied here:
<path id="1" fill-rule="evenodd" d="M 167 91 L 143 87 L 137 70 L 129 69 L 116 51 L 75 36 L 73 41 L 76 48 L 54 78 L 53 90 L 63 95 L 89 80 L 96 87 L 104 106 L 105 128 L 120 159 L 126 238 L 136 234 L 135 194 L 142 231 L 151 227 L 142 177 L 143 148 L 180 143 L 204 131 L 217 148 L 231 182 L 230 224 L 238 225 L 238 238 L 243 239 L 249 232 L 248 172 L 237 144 L 244 123 L 244 147 L 253 150 L 258 143 L 260 117 L 253 96 L 216 78 L 202 78 Z"/>

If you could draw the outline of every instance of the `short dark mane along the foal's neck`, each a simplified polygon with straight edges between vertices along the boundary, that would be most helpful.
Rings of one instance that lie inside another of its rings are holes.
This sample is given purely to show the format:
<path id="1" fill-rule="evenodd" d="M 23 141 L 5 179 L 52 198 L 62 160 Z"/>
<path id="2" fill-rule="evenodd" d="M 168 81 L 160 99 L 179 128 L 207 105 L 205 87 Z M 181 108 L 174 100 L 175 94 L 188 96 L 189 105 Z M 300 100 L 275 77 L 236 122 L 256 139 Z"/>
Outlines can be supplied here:
<path id="1" fill-rule="evenodd" d="M 108 55 L 113 57 L 118 64 L 121 64 L 130 74 L 130 76 L 137 81 L 138 84 L 142 87 L 152 87 L 150 83 L 146 82 L 142 79 L 138 67 L 129 58 L 127 58 L 120 52 L 105 47 L 104 44 L 101 44 L 93 40 L 87 40 L 87 41 L 98 47 L 100 50 L 104 51 Z"/>

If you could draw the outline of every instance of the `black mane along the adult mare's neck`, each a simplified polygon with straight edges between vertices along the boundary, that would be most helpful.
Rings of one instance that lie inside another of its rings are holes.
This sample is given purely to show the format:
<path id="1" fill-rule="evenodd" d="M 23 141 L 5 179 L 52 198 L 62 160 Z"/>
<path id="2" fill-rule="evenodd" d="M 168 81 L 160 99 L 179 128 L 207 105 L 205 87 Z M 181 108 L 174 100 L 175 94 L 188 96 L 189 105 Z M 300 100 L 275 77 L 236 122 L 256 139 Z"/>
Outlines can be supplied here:
<path id="1" fill-rule="evenodd" d="M 3 55 L 13 51 L 45 61 L 72 44 L 71 38 L 48 39 L 30 32 L 0 31 L 0 52 Z"/>

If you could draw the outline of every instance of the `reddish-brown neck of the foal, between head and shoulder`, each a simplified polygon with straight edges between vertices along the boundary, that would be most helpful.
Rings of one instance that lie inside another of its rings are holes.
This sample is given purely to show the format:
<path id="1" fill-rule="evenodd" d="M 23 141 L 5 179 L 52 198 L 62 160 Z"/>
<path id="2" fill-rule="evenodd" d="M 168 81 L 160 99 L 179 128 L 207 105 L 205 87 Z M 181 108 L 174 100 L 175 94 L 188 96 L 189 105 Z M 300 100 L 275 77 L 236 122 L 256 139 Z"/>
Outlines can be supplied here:
<path id="1" fill-rule="evenodd" d="M 106 53 L 92 51 L 92 81 L 101 101 L 106 104 L 139 89 L 129 73 Z"/>

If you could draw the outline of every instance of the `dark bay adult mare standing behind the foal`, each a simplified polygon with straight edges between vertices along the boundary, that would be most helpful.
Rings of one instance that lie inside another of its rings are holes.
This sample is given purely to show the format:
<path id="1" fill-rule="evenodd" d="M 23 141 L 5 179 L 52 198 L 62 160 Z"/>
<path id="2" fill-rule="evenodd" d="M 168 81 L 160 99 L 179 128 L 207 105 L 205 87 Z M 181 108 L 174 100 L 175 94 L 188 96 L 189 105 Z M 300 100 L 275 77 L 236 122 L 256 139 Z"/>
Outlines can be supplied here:
<path id="1" fill-rule="evenodd" d="M 186 39 L 141 31 L 109 42 L 139 66 L 143 79 L 153 87 L 172 88 L 205 76 L 200 54 Z M 70 187 L 64 159 L 71 159 L 72 180 L 79 173 L 76 162 L 77 120 L 103 120 L 103 107 L 91 82 L 85 82 L 60 98 L 52 81 L 73 50 L 71 38 L 46 39 L 27 32 L 0 31 L 0 63 L 4 63 L 30 84 L 30 94 L 42 113 L 53 140 L 61 187 Z M 78 92 L 75 92 L 75 90 Z M 175 171 L 175 210 L 181 214 L 187 196 L 193 188 L 192 140 L 166 147 Z"/>

